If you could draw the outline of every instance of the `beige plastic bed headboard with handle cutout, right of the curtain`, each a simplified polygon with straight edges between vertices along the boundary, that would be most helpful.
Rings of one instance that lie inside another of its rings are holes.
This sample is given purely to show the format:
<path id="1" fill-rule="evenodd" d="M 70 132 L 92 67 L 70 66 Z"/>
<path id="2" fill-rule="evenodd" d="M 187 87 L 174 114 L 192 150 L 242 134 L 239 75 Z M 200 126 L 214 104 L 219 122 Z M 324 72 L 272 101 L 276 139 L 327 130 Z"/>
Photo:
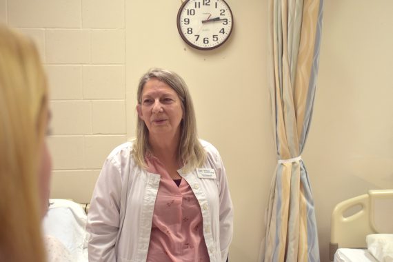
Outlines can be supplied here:
<path id="1" fill-rule="evenodd" d="M 378 199 L 393 199 L 393 190 L 370 190 L 336 205 L 332 212 L 330 231 L 330 261 L 338 248 L 367 248 L 367 234 L 383 233 L 376 228 L 374 205 Z M 359 211 L 345 216 L 350 209 Z"/>

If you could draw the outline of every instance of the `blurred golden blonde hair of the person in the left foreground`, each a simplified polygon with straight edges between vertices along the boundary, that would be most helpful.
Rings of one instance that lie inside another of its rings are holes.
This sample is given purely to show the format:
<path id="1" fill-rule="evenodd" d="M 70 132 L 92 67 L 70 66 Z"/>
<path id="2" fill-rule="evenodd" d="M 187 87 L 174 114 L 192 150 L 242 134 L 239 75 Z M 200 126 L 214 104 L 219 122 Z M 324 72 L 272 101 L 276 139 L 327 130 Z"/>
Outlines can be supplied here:
<path id="1" fill-rule="evenodd" d="M 0 261 L 46 261 L 41 236 L 39 146 L 46 78 L 30 39 L 0 24 Z"/>

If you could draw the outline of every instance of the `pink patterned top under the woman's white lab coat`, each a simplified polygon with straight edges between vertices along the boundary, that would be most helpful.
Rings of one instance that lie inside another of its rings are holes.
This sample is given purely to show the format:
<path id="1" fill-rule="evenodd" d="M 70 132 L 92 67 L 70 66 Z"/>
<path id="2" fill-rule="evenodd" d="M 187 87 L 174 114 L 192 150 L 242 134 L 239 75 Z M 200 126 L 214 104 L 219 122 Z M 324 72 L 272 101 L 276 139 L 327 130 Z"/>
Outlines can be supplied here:
<path id="1" fill-rule="evenodd" d="M 178 187 L 159 159 L 151 154 L 145 161 L 148 172 L 161 175 L 147 261 L 210 261 L 203 238 L 201 208 L 190 185 L 181 179 Z"/>

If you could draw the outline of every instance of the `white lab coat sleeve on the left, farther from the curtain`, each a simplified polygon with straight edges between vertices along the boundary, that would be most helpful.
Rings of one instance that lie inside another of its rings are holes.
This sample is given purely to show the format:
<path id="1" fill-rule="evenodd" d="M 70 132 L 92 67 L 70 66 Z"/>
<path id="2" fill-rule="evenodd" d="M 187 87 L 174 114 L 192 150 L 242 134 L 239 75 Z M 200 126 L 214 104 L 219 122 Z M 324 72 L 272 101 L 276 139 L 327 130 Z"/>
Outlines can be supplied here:
<path id="1" fill-rule="evenodd" d="M 119 232 L 121 198 L 121 163 L 108 157 L 94 188 L 87 230 L 90 233 L 90 262 L 115 262 L 115 243 Z"/>

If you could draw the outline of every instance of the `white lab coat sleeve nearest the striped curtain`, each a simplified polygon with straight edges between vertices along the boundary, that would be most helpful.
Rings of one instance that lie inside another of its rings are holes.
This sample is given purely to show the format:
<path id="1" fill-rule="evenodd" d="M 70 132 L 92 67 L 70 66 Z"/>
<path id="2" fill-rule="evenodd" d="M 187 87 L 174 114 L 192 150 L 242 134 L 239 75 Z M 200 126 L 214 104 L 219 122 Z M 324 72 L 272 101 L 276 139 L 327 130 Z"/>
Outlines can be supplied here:
<path id="1" fill-rule="evenodd" d="M 225 262 L 228 258 L 228 250 L 233 235 L 233 205 L 223 161 L 218 153 L 216 165 L 217 172 L 219 172 L 221 261 Z"/>

